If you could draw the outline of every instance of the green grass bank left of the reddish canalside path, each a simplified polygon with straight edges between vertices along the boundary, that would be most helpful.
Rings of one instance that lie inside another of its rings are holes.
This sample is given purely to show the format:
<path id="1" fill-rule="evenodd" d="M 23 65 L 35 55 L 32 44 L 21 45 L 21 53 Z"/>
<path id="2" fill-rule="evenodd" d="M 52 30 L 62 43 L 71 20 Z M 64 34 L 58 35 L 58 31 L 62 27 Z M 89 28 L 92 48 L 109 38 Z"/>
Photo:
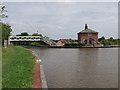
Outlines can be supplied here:
<path id="1" fill-rule="evenodd" d="M 35 57 L 30 51 L 12 46 L 2 50 L 2 88 L 32 88 Z"/>

